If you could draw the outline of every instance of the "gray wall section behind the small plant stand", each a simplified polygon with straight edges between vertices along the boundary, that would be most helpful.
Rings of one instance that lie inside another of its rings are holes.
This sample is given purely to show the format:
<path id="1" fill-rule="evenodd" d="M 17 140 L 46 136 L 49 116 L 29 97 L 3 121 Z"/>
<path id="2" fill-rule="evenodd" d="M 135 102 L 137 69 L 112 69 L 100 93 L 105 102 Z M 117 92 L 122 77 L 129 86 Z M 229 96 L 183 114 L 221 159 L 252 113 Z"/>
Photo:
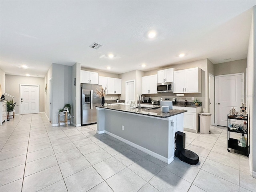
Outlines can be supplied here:
<path id="1" fill-rule="evenodd" d="M 58 109 L 72 104 L 72 66 L 52 64 L 52 124 L 58 124 Z"/>

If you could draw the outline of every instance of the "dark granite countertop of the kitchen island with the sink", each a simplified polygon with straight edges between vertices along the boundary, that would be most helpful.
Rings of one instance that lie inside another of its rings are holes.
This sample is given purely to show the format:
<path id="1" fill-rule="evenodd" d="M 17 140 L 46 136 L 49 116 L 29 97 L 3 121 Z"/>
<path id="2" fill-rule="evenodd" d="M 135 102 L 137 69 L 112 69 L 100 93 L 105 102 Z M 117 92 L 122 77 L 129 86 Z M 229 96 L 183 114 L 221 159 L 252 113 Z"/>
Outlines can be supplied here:
<path id="1" fill-rule="evenodd" d="M 169 110 L 169 112 L 163 113 L 161 112 L 161 109 L 146 109 L 146 108 L 141 108 L 138 110 L 138 108 L 130 108 L 128 105 L 108 105 L 106 107 L 104 106 L 96 106 L 99 108 L 105 108 L 105 109 L 110 109 L 110 110 L 116 110 L 116 111 L 123 111 L 123 112 L 129 112 L 129 113 L 134 113 L 134 114 L 141 114 L 141 115 L 146 115 L 146 116 L 153 116 L 153 117 L 160 117 L 160 118 L 167 118 L 170 116 L 174 116 L 177 114 L 181 114 L 184 112 L 187 112 L 187 110 Z"/>

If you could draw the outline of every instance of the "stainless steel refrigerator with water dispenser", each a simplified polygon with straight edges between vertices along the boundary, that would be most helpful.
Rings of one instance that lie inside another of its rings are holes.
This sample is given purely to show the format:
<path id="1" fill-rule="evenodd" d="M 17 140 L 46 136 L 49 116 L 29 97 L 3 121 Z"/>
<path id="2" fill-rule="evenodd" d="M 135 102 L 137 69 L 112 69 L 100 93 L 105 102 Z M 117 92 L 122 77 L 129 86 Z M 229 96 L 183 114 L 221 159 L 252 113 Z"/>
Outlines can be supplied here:
<path id="1" fill-rule="evenodd" d="M 96 89 L 100 90 L 100 85 L 81 83 L 81 124 L 93 124 L 97 122 L 96 107 L 101 100 L 96 95 Z"/>

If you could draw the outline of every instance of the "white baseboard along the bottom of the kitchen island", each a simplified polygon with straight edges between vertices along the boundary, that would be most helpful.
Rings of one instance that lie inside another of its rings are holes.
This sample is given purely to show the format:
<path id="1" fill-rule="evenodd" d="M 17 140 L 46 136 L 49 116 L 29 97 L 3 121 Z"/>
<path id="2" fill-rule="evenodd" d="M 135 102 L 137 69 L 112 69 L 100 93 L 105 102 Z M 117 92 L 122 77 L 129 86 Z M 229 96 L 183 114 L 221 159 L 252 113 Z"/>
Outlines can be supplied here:
<path id="1" fill-rule="evenodd" d="M 110 132 L 108 132 L 106 130 L 104 132 L 106 134 L 108 134 L 108 135 L 110 135 L 110 136 L 112 136 L 112 137 L 114 137 L 114 138 L 116 138 L 116 139 L 118 139 L 118 140 L 120 140 L 120 141 L 122 141 L 122 142 L 124 142 L 124 143 L 126 143 L 128 145 L 130 145 L 130 146 L 133 146 L 134 148 L 136 148 L 138 150 L 141 150 L 141 151 L 145 152 L 146 154 L 149 154 L 149 155 L 151 155 L 151 156 L 153 156 L 153 157 L 155 157 L 155 158 L 157 158 L 157 159 L 167 163 L 167 164 L 170 164 L 174 160 L 174 156 L 172 156 L 172 157 L 170 157 L 168 159 L 168 158 L 166 158 L 166 157 L 164 157 L 162 155 L 159 155 L 159 154 L 157 154 L 155 152 L 152 152 L 152 151 L 150 151 L 150 150 L 148 150 L 148 149 L 146 149 L 146 148 L 144 148 L 142 146 L 139 146 L 139 145 L 137 145 L 137 144 L 135 144 L 133 142 L 130 142 L 130 141 L 128 141 L 128 140 L 126 140 L 126 139 L 124 139 L 124 138 L 122 138 L 120 136 L 117 136 L 115 134 L 112 134 L 112 133 L 110 133 Z"/>

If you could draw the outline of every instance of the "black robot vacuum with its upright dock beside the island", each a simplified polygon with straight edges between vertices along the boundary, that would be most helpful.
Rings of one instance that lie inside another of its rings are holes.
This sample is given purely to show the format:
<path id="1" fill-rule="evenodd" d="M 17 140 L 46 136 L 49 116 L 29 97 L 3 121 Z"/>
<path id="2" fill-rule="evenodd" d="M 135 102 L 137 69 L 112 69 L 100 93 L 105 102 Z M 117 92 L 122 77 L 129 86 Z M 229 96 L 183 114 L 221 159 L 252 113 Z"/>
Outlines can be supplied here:
<path id="1" fill-rule="evenodd" d="M 199 157 L 194 152 L 185 149 L 186 134 L 180 131 L 175 133 L 175 156 L 181 161 L 190 165 L 196 165 L 199 162 Z"/>

